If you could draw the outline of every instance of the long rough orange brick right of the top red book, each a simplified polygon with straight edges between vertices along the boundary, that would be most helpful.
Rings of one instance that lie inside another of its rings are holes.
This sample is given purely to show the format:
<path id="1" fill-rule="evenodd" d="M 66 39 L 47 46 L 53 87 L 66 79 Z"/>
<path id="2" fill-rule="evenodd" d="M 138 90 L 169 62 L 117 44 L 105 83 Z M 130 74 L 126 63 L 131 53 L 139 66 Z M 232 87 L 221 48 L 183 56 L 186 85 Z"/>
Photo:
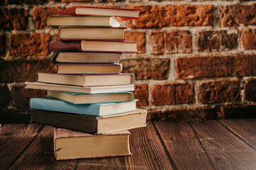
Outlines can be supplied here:
<path id="1" fill-rule="evenodd" d="M 161 28 L 172 26 L 211 26 L 213 5 L 150 5 L 128 6 L 142 8 L 140 19 L 128 21 L 130 28 Z"/>

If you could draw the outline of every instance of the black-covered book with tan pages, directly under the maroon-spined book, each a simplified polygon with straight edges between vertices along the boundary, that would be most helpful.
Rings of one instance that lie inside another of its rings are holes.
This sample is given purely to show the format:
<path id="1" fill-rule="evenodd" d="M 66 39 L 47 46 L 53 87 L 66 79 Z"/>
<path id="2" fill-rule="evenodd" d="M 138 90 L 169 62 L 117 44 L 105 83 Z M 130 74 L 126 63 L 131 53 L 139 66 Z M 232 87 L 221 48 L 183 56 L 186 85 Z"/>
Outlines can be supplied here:
<path id="1" fill-rule="evenodd" d="M 54 52 L 53 63 L 118 63 L 123 52 Z"/>

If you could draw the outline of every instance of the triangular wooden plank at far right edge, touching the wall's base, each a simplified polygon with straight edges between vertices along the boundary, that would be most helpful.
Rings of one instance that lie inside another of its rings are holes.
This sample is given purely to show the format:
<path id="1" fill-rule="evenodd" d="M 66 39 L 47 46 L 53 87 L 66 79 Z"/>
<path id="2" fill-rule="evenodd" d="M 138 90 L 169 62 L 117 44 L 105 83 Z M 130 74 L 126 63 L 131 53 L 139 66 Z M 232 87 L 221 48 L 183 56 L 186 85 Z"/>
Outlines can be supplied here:
<path id="1" fill-rule="evenodd" d="M 220 120 L 229 130 L 245 140 L 248 145 L 256 148 L 256 119 Z"/>

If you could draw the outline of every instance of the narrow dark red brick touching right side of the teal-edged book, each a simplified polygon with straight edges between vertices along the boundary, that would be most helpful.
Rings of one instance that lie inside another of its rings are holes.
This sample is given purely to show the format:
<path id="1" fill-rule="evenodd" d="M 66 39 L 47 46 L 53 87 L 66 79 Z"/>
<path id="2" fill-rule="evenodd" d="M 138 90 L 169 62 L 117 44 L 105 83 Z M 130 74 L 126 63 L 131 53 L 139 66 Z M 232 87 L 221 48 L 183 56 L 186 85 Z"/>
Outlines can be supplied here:
<path id="1" fill-rule="evenodd" d="M 133 94 L 135 99 L 139 99 L 137 106 L 148 106 L 148 84 L 138 84 L 138 90 Z"/>

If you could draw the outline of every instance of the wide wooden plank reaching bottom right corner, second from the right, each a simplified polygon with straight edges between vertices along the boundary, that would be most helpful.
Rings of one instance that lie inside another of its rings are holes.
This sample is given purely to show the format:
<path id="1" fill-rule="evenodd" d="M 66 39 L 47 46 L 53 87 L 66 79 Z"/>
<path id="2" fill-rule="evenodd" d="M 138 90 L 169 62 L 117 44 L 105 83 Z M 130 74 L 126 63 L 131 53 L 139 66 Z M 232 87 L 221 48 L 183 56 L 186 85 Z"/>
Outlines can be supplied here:
<path id="1" fill-rule="evenodd" d="M 255 150 L 217 120 L 192 122 L 191 126 L 216 169 L 256 169 Z"/>

